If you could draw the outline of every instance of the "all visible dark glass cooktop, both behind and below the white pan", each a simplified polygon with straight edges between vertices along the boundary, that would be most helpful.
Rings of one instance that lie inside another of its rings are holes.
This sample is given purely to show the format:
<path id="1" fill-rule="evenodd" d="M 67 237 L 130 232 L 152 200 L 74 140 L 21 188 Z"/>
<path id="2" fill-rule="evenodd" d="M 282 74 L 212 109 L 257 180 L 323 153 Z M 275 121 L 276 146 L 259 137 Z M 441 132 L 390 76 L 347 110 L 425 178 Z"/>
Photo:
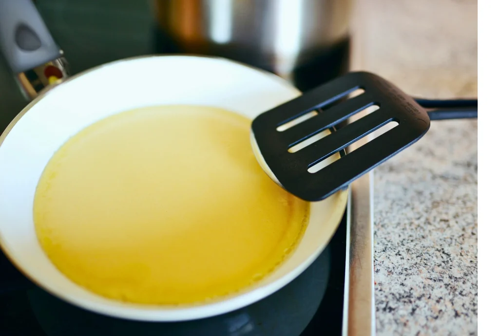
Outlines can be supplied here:
<path id="1" fill-rule="evenodd" d="M 120 58 L 181 52 L 156 27 L 148 1 L 37 0 L 36 5 L 72 74 Z M 340 75 L 348 58 L 346 40 L 297 69 L 294 85 L 306 91 Z M 26 103 L 0 58 L 0 132 Z M 0 336 L 341 335 L 346 229 L 344 216 L 324 252 L 280 291 L 229 314 L 183 323 L 132 322 L 81 310 L 34 286 L 0 251 Z"/>

